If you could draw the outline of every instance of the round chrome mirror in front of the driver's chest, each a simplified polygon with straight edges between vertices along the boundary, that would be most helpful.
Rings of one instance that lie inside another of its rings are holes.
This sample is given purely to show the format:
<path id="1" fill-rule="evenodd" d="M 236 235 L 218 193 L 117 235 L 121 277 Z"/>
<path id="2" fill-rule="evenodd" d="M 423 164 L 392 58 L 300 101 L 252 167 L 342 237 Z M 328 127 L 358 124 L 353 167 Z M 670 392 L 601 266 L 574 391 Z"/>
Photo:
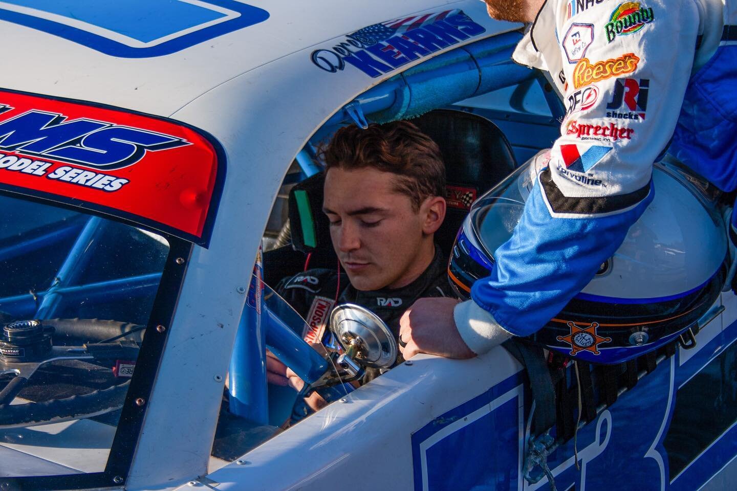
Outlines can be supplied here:
<path id="1" fill-rule="evenodd" d="M 397 339 L 368 308 L 338 305 L 330 314 L 330 330 L 346 354 L 363 367 L 389 368 L 397 361 Z"/>

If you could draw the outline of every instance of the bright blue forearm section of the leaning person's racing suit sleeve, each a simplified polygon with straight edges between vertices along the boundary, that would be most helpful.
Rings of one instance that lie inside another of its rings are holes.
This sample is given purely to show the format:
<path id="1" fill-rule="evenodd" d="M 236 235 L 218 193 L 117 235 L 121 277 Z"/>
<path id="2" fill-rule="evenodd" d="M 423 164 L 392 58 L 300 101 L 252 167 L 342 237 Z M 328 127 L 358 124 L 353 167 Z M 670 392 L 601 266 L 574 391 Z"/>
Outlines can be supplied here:
<path id="1" fill-rule="evenodd" d="M 495 252 L 491 276 L 471 289 L 473 300 L 516 336 L 537 331 L 586 286 L 653 196 L 648 185 L 647 196 L 626 211 L 556 218 L 545 204 L 540 181 L 546 178 L 547 170 L 535 183 L 511 238 Z"/>

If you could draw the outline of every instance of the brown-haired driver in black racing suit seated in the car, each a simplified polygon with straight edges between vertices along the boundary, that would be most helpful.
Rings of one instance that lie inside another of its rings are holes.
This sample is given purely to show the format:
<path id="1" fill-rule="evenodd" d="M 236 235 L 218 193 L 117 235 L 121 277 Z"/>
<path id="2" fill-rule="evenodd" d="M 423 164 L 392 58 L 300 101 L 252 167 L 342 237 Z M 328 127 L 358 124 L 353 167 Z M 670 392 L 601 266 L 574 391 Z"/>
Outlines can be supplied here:
<path id="1" fill-rule="evenodd" d="M 335 305 L 354 303 L 374 311 L 399 338 L 399 318 L 415 300 L 453 296 L 446 258 L 433 240 L 446 211 L 440 149 L 414 124 L 395 121 L 343 127 L 321 156 L 323 211 L 345 273 L 337 265 L 309 269 L 276 290 L 303 317 L 317 319 L 318 330 Z M 267 370 L 272 384 L 304 385 L 271 353 Z M 368 379 L 376 375 L 367 370 Z M 307 403 L 324 405 L 317 394 Z"/>

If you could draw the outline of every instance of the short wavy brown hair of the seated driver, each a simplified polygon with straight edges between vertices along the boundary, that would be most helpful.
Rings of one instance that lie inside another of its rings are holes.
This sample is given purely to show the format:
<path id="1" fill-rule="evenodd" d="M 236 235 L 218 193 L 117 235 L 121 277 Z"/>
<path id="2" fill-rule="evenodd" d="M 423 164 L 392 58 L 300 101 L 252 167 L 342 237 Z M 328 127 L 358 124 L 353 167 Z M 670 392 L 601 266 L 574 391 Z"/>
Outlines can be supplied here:
<path id="1" fill-rule="evenodd" d="M 409 121 L 355 124 L 340 128 L 319 152 L 330 169 L 373 167 L 397 174 L 397 192 L 410 197 L 415 210 L 427 197 L 445 196 L 445 165 L 438 145 Z"/>

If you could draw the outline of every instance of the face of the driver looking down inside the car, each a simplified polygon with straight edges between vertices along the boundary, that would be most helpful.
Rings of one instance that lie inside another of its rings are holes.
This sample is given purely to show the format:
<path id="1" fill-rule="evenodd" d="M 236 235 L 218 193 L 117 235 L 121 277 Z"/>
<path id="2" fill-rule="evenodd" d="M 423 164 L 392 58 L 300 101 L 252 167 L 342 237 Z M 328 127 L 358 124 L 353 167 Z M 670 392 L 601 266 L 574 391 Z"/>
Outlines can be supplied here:
<path id="1" fill-rule="evenodd" d="M 361 291 L 405 286 L 427 266 L 418 264 L 427 261 L 422 207 L 414 210 L 411 199 L 394 189 L 396 178 L 372 168 L 333 168 L 325 177 L 332 245 Z"/>

